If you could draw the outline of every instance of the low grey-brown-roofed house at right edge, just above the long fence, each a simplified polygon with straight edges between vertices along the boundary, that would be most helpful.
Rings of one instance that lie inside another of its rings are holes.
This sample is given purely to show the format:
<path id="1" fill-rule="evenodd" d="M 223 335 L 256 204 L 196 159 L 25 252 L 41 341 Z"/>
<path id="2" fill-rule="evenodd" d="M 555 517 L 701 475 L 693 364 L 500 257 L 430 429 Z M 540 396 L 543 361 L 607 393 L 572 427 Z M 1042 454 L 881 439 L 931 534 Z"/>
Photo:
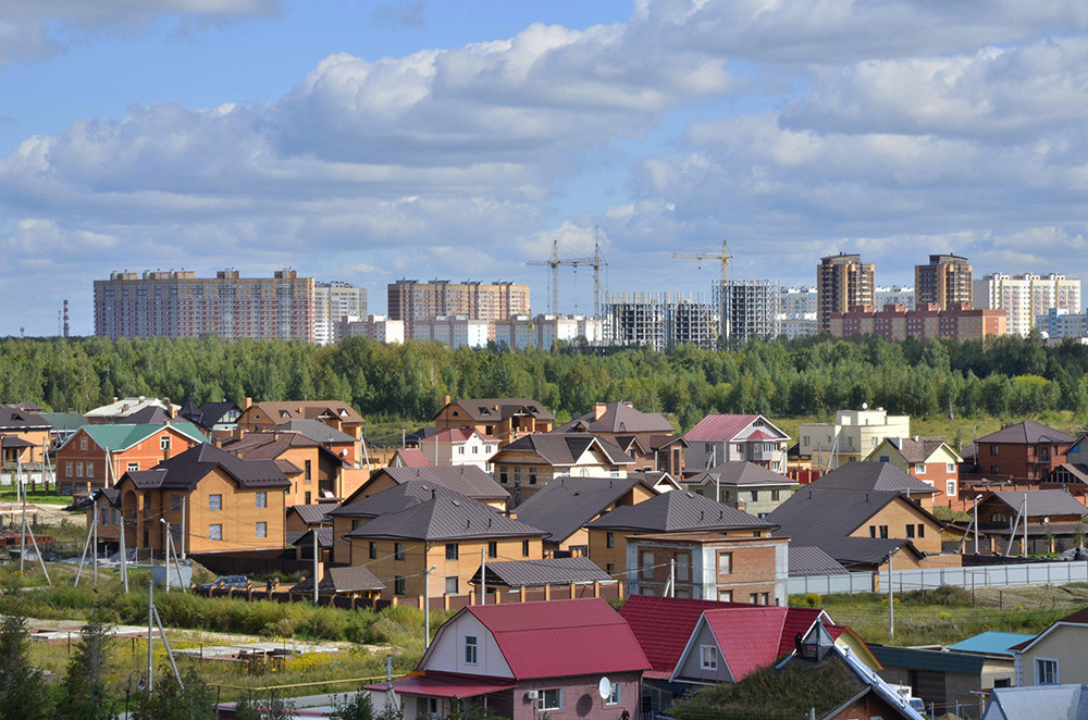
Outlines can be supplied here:
<path id="1" fill-rule="evenodd" d="M 1084 543 L 1086 514 L 1088 507 L 1061 489 L 987 493 L 978 501 L 978 530 L 1000 551 L 1012 543 L 1024 554 L 1026 530 L 1027 553 L 1054 553 Z"/>

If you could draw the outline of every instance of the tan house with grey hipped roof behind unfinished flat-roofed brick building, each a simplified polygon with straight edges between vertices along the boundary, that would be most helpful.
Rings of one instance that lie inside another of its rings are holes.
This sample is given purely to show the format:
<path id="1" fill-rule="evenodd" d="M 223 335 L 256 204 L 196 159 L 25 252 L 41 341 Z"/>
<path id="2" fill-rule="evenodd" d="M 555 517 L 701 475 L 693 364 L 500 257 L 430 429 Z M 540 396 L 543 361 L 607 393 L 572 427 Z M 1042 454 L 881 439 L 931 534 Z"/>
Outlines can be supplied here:
<path id="1" fill-rule="evenodd" d="M 585 527 L 590 532 L 590 559 L 609 575 L 626 574 L 628 583 L 634 583 L 646 570 L 630 564 L 628 544 L 635 535 L 715 533 L 719 539 L 769 537 L 775 525 L 694 493 L 675 491 L 638 505 L 618 507 L 586 523 Z M 738 557 L 738 566 L 741 561 Z M 665 564 L 667 568 L 668 563 Z"/>

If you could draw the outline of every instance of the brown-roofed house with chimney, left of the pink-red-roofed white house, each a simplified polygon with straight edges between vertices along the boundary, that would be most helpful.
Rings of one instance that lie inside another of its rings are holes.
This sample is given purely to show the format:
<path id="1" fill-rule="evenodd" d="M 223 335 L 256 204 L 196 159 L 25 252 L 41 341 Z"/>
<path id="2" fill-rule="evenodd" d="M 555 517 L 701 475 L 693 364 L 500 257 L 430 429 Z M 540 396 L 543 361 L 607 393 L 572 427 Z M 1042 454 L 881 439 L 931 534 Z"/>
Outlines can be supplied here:
<path id="1" fill-rule="evenodd" d="M 658 470 L 676 477 L 683 475 L 683 451 L 688 443 L 659 412 L 642 412 L 622 400 L 596 402 L 593 410 L 560 425 L 555 432 L 590 433 L 634 458 L 638 470 Z"/>

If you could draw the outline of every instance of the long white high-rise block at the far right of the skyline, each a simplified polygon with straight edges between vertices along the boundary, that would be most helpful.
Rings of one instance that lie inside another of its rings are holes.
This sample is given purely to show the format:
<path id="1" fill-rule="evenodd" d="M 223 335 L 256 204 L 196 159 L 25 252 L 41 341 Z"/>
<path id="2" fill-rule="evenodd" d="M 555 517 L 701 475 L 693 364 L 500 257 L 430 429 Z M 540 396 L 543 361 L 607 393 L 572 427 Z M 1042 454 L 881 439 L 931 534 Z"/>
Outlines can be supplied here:
<path id="1" fill-rule="evenodd" d="M 975 307 L 1004 310 L 1010 335 L 1027 336 L 1036 318 L 1051 308 L 1080 312 L 1080 281 L 1065 275 L 993 273 L 973 285 Z"/>

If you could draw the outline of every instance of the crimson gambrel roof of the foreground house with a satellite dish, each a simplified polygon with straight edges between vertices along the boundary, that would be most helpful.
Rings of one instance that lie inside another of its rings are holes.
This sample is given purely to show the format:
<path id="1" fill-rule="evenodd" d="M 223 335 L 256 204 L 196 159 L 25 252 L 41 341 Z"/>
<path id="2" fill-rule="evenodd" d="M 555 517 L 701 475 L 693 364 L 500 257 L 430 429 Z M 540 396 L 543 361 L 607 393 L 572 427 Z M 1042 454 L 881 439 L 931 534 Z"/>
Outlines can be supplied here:
<path id="1" fill-rule="evenodd" d="M 650 668 L 634 633 L 601 598 L 471 605 L 472 615 L 491 632 L 517 680 L 601 676 Z M 455 616 L 443 629 L 453 626 Z M 431 647 L 438 645 L 436 636 Z M 420 661 L 426 667 L 428 650 Z"/>

